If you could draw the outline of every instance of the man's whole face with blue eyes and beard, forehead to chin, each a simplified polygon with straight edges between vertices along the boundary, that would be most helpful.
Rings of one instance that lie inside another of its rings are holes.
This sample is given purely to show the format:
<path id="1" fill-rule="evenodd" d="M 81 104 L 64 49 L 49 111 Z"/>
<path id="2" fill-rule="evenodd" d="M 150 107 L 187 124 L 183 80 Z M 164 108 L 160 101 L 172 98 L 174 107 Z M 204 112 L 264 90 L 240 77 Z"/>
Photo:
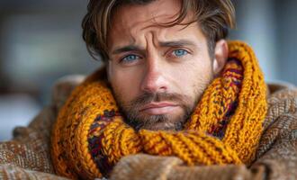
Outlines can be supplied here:
<path id="1" fill-rule="evenodd" d="M 135 129 L 181 130 L 213 78 L 198 23 L 162 27 L 178 1 L 125 5 L 108 36 L 108 76 L 126 121 Z M 191 21 L 188 14 L 183 23 Z"/>

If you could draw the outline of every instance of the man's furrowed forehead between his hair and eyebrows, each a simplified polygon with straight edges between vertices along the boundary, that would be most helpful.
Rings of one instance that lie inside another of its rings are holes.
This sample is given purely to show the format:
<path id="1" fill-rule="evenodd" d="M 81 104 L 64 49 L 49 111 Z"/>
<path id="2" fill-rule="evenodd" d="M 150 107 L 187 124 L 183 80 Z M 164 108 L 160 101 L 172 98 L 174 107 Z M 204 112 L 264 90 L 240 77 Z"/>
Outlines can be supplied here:
<path id="1" fill-rule="evenodd" d="M 175 20 L 181 8 L 180 0 L 157 0 L 149 4 L 122 5 L 112 18 L 112 29 L 109 31 L 109 49 L 123 46 L 127 43 L 140 43 L 148 32 L 158 39 L 174 39 L 177 35 L 186 34 L 187 27 L 175 25 L 164 27 L 158 24 L 166 24 Z M 191 12 L 187 14 L 182 23 L 192 21 Z M 196 26 L 196 23 L 190 26 Z M 196 27 L 197 28 L 197 27 Z M 184 36 L 183 35 L 183 36 Z"/>

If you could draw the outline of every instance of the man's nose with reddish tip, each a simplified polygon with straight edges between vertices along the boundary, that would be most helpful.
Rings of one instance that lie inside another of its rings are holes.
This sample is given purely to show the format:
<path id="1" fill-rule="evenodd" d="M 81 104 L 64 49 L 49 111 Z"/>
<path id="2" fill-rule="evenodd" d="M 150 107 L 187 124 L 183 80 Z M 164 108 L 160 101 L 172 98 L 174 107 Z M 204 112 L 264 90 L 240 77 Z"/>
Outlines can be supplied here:
<path id="1" fill-rule="evenodd" d="M 167 88 L 166 63 L 162 62 L 161 58 L 147 58 L 141 90 L 148 93 L 164 93 Z"/>

